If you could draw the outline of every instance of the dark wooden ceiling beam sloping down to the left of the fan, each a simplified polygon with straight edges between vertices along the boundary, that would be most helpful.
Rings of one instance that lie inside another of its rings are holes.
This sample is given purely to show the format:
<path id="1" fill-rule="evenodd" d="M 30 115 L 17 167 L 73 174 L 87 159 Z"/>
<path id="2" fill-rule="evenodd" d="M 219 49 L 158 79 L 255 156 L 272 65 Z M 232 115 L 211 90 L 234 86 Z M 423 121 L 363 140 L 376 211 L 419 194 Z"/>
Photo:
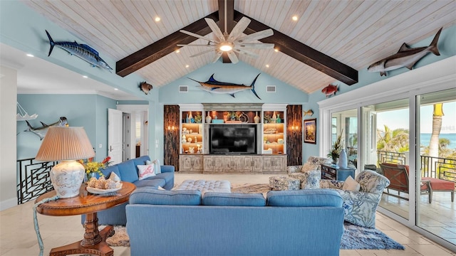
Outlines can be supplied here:
<path id="1" fill-rule="evenodd" d="M 215 22 L 217 22 L 219 21 L 218 11 L 215 11 L 204 18 L 212 18 Z M 207 35 L 212 31 L 209 26 L 207 26 L 204 18 L 201 18 L 182 29 L 199 35 Z M 151 45 L 146 46 L 145 48 L 142 48 L 141 50 L 138 50 L 121 60 L 118 60 L 115 63 L 115 73 L 121 77 L 130 75 L 136 70 L 139 70 L 155 60 L 165 57 L 165 55 L 177 50 L 179 48 L 177 47 L 177 44 L 188 44 L 193 41 L 195 41 L 193 36 L 188 36 L 185 33 L 176 31 L 170 34 L 170 36 L 166 36 L 165 38 L 162 38 L 159 41 L 156 41 L 155 43 L 152 43 Z"/>

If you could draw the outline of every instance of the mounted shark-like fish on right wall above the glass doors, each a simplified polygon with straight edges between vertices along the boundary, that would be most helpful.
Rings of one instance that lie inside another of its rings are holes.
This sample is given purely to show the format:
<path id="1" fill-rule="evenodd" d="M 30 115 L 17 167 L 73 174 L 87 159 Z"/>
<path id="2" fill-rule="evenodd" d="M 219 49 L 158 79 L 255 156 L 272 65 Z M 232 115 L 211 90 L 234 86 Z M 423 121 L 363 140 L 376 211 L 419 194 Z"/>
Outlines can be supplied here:
<path id="1" fill-rule="evenodd" d="M 386 71 L 395 70 L 398 68 L 408 68 L 411 70 L 413 66 L 421 60 L 427 53 L 440 55 L 437 43 L 439 41 L 442 28 L 435 34 L 434 39 L 429 46 L 408 48 L 406 43 L 400 46 L 398 53 L 390 55 L 383 60 L 379 60 L 368 67 L 369 72 L 380 72 L 380 76 L 385 75 Z"/>

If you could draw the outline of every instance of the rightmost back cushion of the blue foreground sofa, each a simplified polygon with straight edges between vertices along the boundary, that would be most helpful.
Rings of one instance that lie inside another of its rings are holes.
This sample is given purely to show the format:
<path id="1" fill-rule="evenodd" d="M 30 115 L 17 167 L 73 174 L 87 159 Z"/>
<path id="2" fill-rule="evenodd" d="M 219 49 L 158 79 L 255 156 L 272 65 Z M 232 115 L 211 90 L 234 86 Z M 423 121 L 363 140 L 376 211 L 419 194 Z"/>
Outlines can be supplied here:
<path id="1" fill-rule="evenodd" d="M 269 191 L 266 194 L 267 206 L 289 207 L 342 207 L 342 197 L 332 189 L 304 189 L 299 191 Z"/>

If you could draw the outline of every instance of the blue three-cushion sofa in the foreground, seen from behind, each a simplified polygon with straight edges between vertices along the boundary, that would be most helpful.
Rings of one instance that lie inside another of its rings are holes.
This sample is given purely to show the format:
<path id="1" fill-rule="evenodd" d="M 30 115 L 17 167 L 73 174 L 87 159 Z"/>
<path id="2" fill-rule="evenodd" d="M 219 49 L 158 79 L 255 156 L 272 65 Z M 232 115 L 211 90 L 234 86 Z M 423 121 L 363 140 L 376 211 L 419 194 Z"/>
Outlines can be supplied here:
<path id="1" fill-rule="evenodd" d="M 126 206 L 132 256 L 339 255 L 341 196 L 333 190 L 262 194 L 138 188 Z"/>

